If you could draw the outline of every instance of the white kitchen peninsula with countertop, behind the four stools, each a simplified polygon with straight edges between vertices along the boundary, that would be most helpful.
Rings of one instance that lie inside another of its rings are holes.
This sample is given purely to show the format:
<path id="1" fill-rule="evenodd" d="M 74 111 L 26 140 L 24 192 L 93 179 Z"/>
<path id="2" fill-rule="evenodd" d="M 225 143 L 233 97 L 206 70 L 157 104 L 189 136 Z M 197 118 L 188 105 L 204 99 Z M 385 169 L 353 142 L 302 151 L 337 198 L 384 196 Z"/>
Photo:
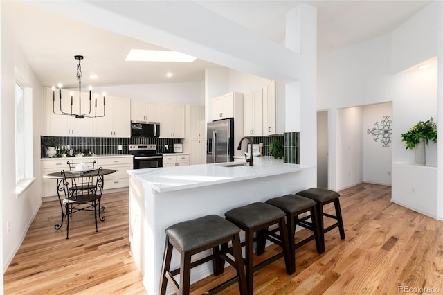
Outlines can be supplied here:
<path id="1" fill-rule="evenodd" d="M 165 229 L 208 214 L 307 188 L 314 167 L 255 157 L 254 166 L 214 163 L 129 170 L 129 239 L 148 294 L 159 292 Z M 217 230 L 217 229 L 215 229 Z M 177 253 L 172 267 L 179 266 Z M 212 274 L 209 263 L 192 269 L 191 283 Z"/>

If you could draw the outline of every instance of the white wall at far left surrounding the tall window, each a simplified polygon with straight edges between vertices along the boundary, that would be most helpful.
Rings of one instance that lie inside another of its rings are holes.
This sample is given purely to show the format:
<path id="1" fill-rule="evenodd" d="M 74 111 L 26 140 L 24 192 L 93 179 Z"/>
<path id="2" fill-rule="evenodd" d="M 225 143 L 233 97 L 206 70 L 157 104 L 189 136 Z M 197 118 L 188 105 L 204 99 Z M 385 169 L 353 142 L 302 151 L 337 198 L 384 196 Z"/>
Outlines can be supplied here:
<path id="1" fill-rule="evenodd" d="M 3 16 L 2 16 L 3 17 Z M 21 244 L 28 226 L 41 204 L 40 181 L 36 180 L 21 195 L 15 194 L 15 79 L 33 89 L 33 172 L 40 177 L 40 138 L 42 134 L 42 89 L 37 77 L 22 55 L 9 28 L 1 28 L 1 230 L 3 232 L 3 270 Z M 6 233 L 6 222 L 11 229 Z"/>

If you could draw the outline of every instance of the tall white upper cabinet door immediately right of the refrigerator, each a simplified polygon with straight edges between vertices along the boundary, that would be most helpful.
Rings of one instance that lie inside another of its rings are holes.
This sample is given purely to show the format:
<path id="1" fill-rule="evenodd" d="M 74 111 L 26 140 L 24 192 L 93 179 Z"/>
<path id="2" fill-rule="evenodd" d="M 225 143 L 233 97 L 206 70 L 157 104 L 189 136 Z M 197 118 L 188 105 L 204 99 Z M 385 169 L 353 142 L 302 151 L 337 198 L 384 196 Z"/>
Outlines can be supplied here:
<path id="1" fill-rule="evenodd" d="M 263 135 L 263 93 L 262 89 L 244 93 L 243 97 L 244 136 Z"/>

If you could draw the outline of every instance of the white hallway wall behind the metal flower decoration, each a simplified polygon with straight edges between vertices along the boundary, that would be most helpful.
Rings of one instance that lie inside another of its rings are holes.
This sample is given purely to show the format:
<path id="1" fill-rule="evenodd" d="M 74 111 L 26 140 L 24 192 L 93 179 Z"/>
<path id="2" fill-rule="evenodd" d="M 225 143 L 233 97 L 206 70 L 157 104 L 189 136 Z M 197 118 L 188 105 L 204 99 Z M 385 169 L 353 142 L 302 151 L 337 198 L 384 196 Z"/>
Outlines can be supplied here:
<path id="1" fill-rule="evenodd" d="M 392 143 L 388 143 L 387 147 L 383 147 L 381 139 L 377 142 L 368 134 L 368 129 L 383 129 L 382 121 L 384 116 L 392 118 L 392 103 L 383 103 L 377 105 L 365 105 L 363 107 L 363 181 L 372 184 L 384 184 L 390 186 L 392 173 Z M 379 123 L 379 125 L 374 125 Z M 388 124 L 386 129 L 388 129 Z M 392 126 L 390 127 L 392 128 Z M 392 135 L 391 135 L 392 136 Z M 381 136 L 379 136 L 381 138 Z"/>

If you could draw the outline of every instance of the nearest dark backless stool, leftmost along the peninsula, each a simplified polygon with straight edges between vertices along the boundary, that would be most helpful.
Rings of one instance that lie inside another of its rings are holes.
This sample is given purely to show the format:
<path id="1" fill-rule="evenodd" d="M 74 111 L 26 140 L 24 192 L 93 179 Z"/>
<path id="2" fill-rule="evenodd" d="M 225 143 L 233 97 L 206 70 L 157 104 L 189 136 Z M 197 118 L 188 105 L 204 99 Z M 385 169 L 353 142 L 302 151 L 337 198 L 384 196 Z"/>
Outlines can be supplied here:
<path id="1" fill-rule="evenodd" d="M 244 274 L 244 264 L 242 258 L 242 246 L 239 237 L 240 229 L 218 215 L 207 215 L 195 220 L 188 220 L 174 224 L 165 229 L 166 243 L 165 254 L 163 256 L 163 267 L 161 269 L 159 294 L 166 293 L 168 283 L 171 283 L 177 294 L 189 294 L 190 292 L 190 271 L 204 262 L 213 260 L 214 274 L 223 272 L 224 261 L 233 265 L 237 270 L 237 276 L 221 285 L 211 289 L 205 294 L 215 294 L 238 281 L 239 294 L 247 294 L 246 278 Z M 233 244 L 234 260 L 226 256 L 219 247 L 221 244 Z M 180 267 L 170 271 L 173 248 L 180 252 Z M 191 263 L 191 256 L 202 251 L 212 249 L 213 253 Z M 180 274 L 180 283 L 174 276 Z"/>

